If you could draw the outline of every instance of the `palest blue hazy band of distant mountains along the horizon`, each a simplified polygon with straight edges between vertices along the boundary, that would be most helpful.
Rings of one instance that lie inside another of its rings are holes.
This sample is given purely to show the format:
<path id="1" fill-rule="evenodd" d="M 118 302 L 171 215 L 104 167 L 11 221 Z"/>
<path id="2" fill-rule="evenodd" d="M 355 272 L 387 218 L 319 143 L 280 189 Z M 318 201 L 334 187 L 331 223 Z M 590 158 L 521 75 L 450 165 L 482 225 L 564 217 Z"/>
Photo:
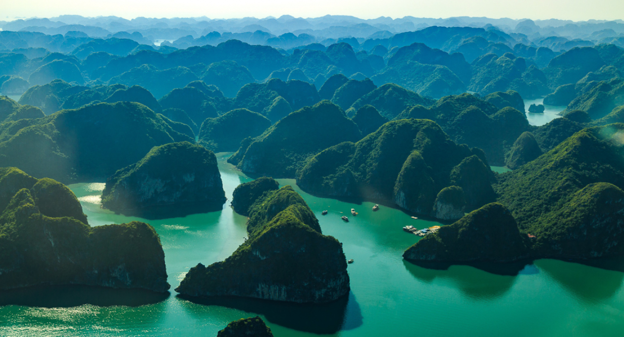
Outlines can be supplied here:
<path id="1" fill-rule="evenodd" d="M 358 41 L 346 41 L 356 49 L 366 39 L 388 39 L 402 32 L 418 31 L 426 27 L 474 27 L 487 31 L 500 31 L 505 40 L 524 44 L 570 49 L 573 46 L 592 46 L 616 39 L 622 43 L 624 21 L 570 21 L 560 19 L 489 19 L 487 17 L 449 17 L 432 19 L 406 16 L 392 19 L 359 19 L 353 16 L 323 16 L 301 18 L 284 15 L 280 17 L 243 17 L 241 19 L 210 19 L 208 17 L 124 19 L 116 16 L 82 17 L 63 15 L 50 18 L 17 19 L 0 21 L 3 31 L 42 32 L 49 35 L 74 37 L 119 37 L 132 39 L 140 44 L 152 44 L 156 40 L 173 40 L 175 47 L 218 44 L 227 39 L 239 39 L 253 44 L 288 49 L 321 43 L 324 46 L 336 39 L 354 37 Z M 77 32 L 77 33 L 76 33 Z M 84 34 L 81 34 L 84 33 Z M 127 34 L 126 34 L 127 33 Z M 218 33 L 218 34 L 217 34 Z M 290 33 L 290 34 L 289 34 Z M 301 34 L 304 34 L 301 36 Z M 509 34 L 509 36 L 505 36 Z M 550 37 L 550 39 L 545 39 Z M 618 39 L 618 37 L 620 39 Z M 570 42 L 575 39 L 582 41 Z M 176 41 L 178 40 L 178 41 Z M 560 46 L 559 46 L 560 45 Z M 36 47 L 36 46 L 30 46 Z M 38 47 L 38 46 L 37 46 Z M 0 49 L 4 49 L 1 48 Z"/>

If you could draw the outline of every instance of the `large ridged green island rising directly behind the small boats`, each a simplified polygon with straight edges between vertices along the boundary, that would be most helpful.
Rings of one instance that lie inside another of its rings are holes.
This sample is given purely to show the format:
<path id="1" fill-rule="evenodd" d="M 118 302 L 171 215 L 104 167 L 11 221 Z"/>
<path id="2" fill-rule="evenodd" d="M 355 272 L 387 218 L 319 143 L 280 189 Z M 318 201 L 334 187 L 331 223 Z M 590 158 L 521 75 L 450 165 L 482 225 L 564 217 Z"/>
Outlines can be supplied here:
<path id="1" fill-rule="evenodd" d="M 391 200 L 426 215 L 442 188 L 463 185 L 470 207 L 479 207 L 493 198 L 492 173 L 475 154 L 482 151 L 455 144 L 431 120 L 392 120 L 359 142 L 314 155 L 297 183 L 316 195 Z"/>

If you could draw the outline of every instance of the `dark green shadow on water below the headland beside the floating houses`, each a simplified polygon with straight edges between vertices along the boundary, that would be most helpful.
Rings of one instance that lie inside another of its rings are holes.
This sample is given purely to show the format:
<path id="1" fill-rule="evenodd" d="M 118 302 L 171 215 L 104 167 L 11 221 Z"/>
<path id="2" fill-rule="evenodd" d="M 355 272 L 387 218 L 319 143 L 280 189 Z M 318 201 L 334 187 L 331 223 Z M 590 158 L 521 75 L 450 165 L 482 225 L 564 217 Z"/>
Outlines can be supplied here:
<path id="1" fill-rule="evenodd" d="M 500 298 L 514 285 L 517 275 L 539 272 L 533 265 L 522 265 L 521 270 L 518 270 L 520 265 L 517 265 L 515 268 L 499 270 L 499 273 L 491 273 L 484 271 L 484 266 L 477 268 L 471 265 L 455 265 L 450 268 L 451 265 L 446 263 L 423 266 L 422 263 L 416 264 L 406 260 L 403 264 L 417 280 L 425 283 L 434 283 L 436 279 L 451 281 L 464 296 L 474 300 Z M 487 269 L 493 270 L 494 266 L 487 266 Z"/>

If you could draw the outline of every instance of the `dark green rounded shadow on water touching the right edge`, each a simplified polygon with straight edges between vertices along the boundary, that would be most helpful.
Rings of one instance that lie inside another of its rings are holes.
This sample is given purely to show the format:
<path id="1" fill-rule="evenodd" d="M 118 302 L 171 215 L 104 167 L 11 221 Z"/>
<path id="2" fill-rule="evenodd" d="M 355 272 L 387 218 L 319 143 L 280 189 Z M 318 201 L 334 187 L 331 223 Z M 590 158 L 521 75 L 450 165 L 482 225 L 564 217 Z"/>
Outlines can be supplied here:
<path id="1" fill-rule="evenodd" d="M 583 303 L 600 303 L 612 298 L 624 281 L 622 271 L 600 267 L 617 266 L 618 262 L 613 260 L 583 261 L 581 264 L 542 259 L 535 265 Z"/>

